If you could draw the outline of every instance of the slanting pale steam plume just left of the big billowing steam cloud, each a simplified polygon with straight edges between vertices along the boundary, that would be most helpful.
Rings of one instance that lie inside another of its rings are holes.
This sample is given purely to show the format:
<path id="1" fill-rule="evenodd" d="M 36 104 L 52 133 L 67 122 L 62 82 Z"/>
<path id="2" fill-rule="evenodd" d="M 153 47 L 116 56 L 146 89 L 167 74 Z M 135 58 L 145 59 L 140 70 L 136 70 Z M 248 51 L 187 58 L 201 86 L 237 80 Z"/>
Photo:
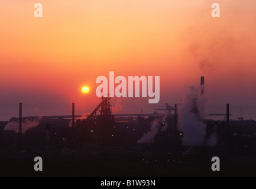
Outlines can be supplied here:
<path id="1" fill-rule="evenodd" d="M 138 144 L 144 144 L 144 143 L 154 143 L 155 141 L 155 135 L 158 132 L 158 129 L 160 128 L 160 122 L 157 118 L 155 118 L 150 123 L 150 131 L 143 134 L 143 136 L 138 139 Z"/>

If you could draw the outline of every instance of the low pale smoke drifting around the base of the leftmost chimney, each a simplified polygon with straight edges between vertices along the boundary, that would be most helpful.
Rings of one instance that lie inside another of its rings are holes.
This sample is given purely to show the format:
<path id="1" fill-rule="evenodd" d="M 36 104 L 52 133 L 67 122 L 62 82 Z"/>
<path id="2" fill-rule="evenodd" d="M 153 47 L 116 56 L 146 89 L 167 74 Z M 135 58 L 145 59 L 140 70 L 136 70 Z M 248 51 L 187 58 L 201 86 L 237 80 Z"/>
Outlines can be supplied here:
<path id="1" fill-rule="evenodd" d="M 22 133 L 25 133 L 28 129 L 34 128 L 35 126 L 40 124 L 40 120 L 43 118 L 43 116 L 39 116 L 35 120 L 30 120 L 30 119 L 25 119 L 22 122 Z M 7 125 L 5 126 L 4 130 L 12 130 L 18 133 L 19 131 L 19 123 L 18 121 L 11 121 L 8 122 Z"/>

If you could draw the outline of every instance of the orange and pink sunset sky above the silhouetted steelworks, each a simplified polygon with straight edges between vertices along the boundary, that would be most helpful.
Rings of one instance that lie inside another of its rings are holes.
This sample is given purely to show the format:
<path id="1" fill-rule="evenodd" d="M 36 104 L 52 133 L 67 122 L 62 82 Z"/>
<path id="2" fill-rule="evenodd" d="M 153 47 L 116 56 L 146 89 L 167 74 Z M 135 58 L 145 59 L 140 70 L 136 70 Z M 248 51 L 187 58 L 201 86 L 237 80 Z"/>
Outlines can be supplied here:
<path id="1" fill-rule="evenodd" d="M 116 113 L 174 106 L 204 76 L 206 112 L 225 113 L 229 103 L 232 114 L 242 107 L 256 119 L 255 10 L 254 0 L 1 0 L 0 120 L 18 117 L 19 102 L 23 116 L 71 115 L 72 102 L 77 115 L 92 112 L 96 77 L 109 71 L 160 76 L 160 102 L 113 97 Z"/>

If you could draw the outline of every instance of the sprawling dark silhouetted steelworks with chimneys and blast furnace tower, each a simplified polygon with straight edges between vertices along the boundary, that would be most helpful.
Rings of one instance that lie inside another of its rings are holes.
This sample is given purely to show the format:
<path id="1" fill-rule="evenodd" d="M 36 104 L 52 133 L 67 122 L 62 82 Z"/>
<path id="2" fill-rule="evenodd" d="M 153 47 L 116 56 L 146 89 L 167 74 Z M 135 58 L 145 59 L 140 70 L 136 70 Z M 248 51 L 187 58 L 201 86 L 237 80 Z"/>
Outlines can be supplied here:
<path id="1" fill-rule="evenodd" d="M 132 152 L 133 155 L 136 154 L 134 159 L 142 159 L 143 162 L 165 159 L 163 160 L 165 164 L 177 162 L 177 159 L 179 159 L 178 162 L 186 161 L 188 155 L 197 154 L 198 157 L 200 152 L 208 154 L 229 151 L 255 153 L 255 121 L 229 120 L 231 114 L 228 103 L 226 109 L 223 110 L 226 113 L 209 114 L 209 116 L 225 116 L 225 120 L 205 119 L 203 100 L 199 103 L 204 95 L 205 78 L 202 76 L 200 93 L 187 96 L 187 109 L 189 110 L 187 115 L 193 116 L 196 125 L 204 127 L 203 142 L 199 145 L 184 142 L 187 135 L 192 135 L 193 132 L 187 132 L 182 127 L 182 124 L 185 124 L 182 121 L 184 108 L 180 104 L 170 106 L 166 103 L 159 109 L 155 109 L 152 114 L 113 115 L 111 97 L 108 95 L 102 96 L 98 106 L 86 117 L 76 115 L 75 104 L 72 103 L 72 115 L 70 116 L 44 116 L 40 121 L 36 117 L 22 118 L 22 103 L 19 103 L 19 118 L 11 118 L 9 122 L 18 123 L 18 131 L 4 130 L 8 122 L 0 123 L 1 148 L 12 146 L 12 148 L 25 152 L 44 149 L 54 154 L 58 152 L 61 156 L 74 157 L 82 156 L 82 154 L 86 154 L 86 157 L 95 155 L 95 149 L 98 149 L 98 153 L 103 153 L 103 149 L 117 148 L 122 151 L 121 156 Z M 25 120 L 30 120 L 30 123 L 35 121 L 38 125 L 24 132 Z M 186 124 L 189 125 L 190 122 Z M 209 145 L 208 141 L 212 140 L 213 136 L 215 144 Z"/>

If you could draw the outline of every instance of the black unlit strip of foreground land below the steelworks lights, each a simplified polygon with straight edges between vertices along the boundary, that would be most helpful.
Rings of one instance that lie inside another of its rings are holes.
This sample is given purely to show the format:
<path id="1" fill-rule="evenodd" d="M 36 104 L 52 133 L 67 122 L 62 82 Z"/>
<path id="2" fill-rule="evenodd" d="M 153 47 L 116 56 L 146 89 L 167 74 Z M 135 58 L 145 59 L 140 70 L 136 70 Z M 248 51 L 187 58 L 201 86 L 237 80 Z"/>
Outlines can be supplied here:
<path id="1" fill-rule="evenodd" d="M 212 171 L 211 157 L 180 159 L 128 152 L 85 157 L 42 157 L 43 171 L 34 170 L 33 157 L 0 158 L 0 177 L 255 177 L 255 156 L 220 157 L 220 171 Z"/>

